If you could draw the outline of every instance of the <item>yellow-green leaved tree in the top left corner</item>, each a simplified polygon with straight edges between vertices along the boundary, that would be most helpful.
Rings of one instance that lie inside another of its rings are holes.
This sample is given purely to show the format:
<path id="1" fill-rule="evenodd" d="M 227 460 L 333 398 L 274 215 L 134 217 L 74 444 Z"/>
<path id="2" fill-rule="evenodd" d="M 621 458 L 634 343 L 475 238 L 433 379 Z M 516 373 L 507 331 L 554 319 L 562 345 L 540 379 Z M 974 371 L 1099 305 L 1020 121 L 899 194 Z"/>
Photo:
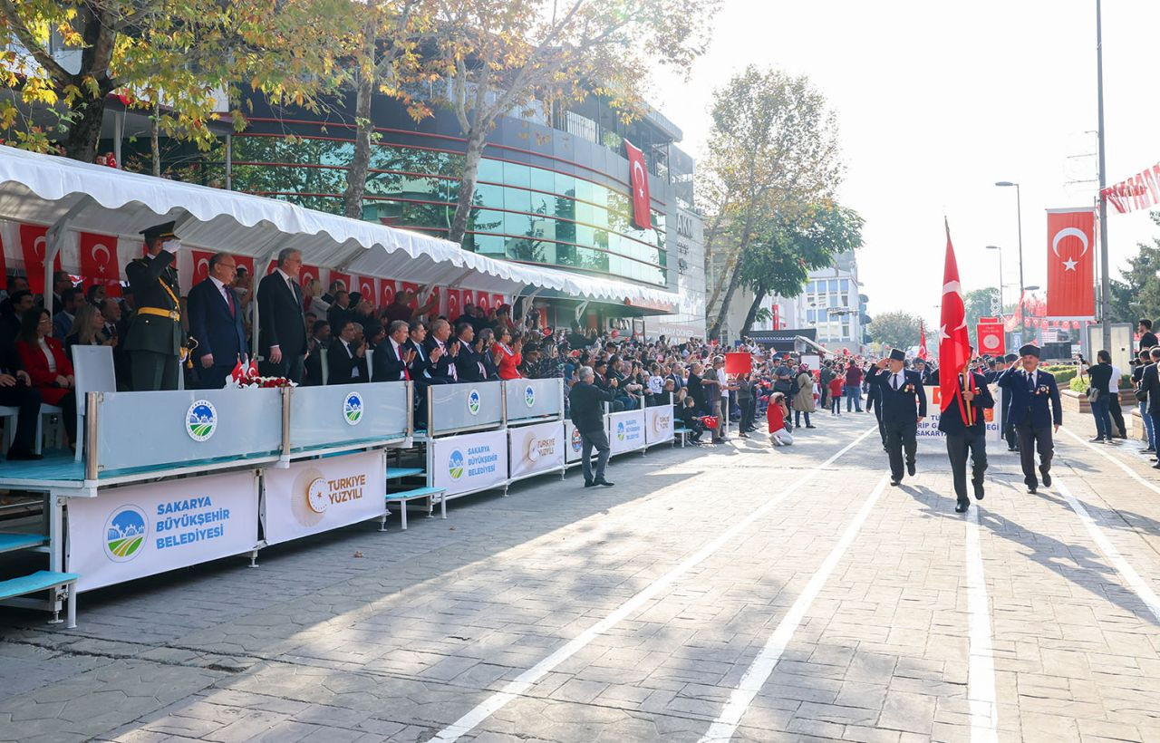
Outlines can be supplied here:
<path id="1" fill-rule="evenodd" d="M 146 111 L 172 136 L 210 146 L 220 93 L 238 101 L 248 82 L 274 100 L 303 104 L 329 79 L 329 27 L 346 0 L 0 0 L 0 140 L 48 151 L 57 141 L 92 161 L 110 94 Z M 324 32 L 325 31 L 325 32 Z M 55 56 L 56 34 L 73 60 Z M 73 68 L 75 67 L 75 70 Z M 34 111 L 35 109 L 35 111 Z M 56 116 L 51 130 L 32 112 Z M 241 111 L 233 109 L 235 125 Z"/>

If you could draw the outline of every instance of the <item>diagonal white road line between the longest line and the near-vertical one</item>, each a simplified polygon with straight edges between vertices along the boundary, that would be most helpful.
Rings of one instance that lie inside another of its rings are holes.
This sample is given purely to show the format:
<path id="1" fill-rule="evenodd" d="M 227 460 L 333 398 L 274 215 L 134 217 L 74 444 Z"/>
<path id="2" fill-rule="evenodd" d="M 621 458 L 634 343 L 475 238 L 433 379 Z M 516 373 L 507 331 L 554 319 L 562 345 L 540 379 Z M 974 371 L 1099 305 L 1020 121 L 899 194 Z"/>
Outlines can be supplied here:
<path id="1" fill-rule="evenodd" d="M 838 561 L 842 559 L 846 549 L 854 541 L 858 531 L 862 529 L 862 524 L 865 523 L 867 517 L 870 516 L 870 510 L 873 508 L 875 503 L 878 501 L 878 496 L 882 495 L 883 489 L 886 487 L 886 475 L 883 475 L 882 480 L 878 481 L 877 487 L 867 498 L 867 502 L 862 504 L 858 510 L 857 516 L 850 522 L 850 525 L 846 527 L 846 532 L 842 533 L 842 538 L 838 540 L 834 548 L 829 552 L 825 562 L 818 568 L 818 571 L 813 574 L 810 582 L 806 583 L 805 589 L 790 606 L 789 613 L 782 618 L 781 622 L 777 624 L 777 628 L 774 633 L 769 635 L 769 640 L 766 641 L 766 647 L 761 649 L 757 657 L 753 660 L 749 668 L 746 670 L 745 676 L 741 677 L 741 683 L 738 687 L 733 690 L 730 694 L 728 701 L 725 704 L 725 708 L 722 709 L 720 715 L 713 721 L 713 724 L 709 728 L 701 738 L 701 743 L 712 743 L 720 741 L 728 741 L 733 737 L 733 733 L 737 731 L 737 726 L 741 722 L 741 715 L 745 711 L 749 708 L 749 704 L 753 698 L 757 695 L 761 687 L 766 685 L 769 680 L 770 673 L 774 672 L 777 662 L 782 657 L 782 653 L 785 651 L 785 646 L 789 644 L 790 640 L 793 638 L 793 633 L 797 632 L 798 625 L 802 624 L 802 619 L 805 618 L 805 612 L 810 610 L 813 604 L 813 599 L 818 597 L 822 587 L 826 585 L 826 581 L 829 580 L 829 574 L 834 571 L 838 567 Z"/>

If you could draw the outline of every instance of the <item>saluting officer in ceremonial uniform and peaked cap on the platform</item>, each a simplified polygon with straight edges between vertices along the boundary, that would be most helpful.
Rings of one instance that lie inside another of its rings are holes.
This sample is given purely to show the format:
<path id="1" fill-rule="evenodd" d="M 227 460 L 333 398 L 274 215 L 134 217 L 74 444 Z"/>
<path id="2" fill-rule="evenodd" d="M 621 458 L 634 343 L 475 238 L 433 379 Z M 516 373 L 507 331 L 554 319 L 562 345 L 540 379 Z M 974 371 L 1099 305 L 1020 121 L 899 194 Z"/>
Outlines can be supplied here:
<path id="1" fill-rule="evenodd" d="M 146 255 L 125 267 L 137 305 L 124 341 L 132 388 L 176 389 L 183 337 L 176 269 L 181 243 L 172 221 L 142 234 Z"/>

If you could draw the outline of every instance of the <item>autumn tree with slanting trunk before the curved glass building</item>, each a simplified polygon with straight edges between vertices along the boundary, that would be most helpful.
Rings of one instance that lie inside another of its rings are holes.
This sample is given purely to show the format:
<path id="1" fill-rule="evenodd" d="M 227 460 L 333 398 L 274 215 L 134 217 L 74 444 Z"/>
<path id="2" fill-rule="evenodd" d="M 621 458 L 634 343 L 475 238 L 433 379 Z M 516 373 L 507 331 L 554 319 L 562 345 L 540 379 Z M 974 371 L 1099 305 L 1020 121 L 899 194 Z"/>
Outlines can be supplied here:
<path id="1" fill-rule="evenodd" d="M 687 70 L 719 0 L 442 0 L 436 14 L 445 102 L 466 139 L 449 238 L 463 240 L 488 132 L 503 115 L 551 110 L 592 89 L 622 119 L 644 109 L 661 64 Z"/>

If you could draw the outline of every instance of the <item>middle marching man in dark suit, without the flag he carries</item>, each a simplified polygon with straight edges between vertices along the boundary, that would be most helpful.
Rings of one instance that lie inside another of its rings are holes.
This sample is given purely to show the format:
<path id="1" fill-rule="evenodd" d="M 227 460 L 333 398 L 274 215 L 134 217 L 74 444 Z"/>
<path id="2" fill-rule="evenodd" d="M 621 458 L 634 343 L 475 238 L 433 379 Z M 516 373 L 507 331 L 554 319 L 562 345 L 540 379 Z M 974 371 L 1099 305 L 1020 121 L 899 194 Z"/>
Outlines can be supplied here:
<path id="1" fill-rule="evenodd" d="M 940 374 L 943 370 L 940 371 Z M 955 480 L 955 512 L 965 513 L 971 507 L 966 494 L 966 458 L 971 457 L 971 485 L 976 500 L 983 500 L 983 473 L 987 471 L 987 422 L 984 410 L 993 408 L 994 399 L 983 374 L 969 372 L 966 384 L 962 374 L 955 399 L 938 416 L 938 430 L 947 435 L 947 457 Z M 935 379 L 935 383 L 941 383 Z M 964 415 L 967 420 L 963 420 Z"/>

